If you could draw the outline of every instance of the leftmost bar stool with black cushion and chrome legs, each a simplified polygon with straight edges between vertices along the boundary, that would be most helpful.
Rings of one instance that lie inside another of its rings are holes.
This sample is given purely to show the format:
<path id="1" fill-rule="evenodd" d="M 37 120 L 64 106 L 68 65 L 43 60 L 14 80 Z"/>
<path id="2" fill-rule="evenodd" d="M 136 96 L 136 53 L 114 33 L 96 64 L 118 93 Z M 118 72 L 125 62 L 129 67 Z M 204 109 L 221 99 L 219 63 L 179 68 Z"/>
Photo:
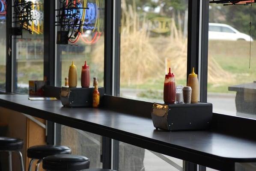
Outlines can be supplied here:
<path id="1" fill-rule="evenodd" d="M 9 171 L 12 171 L 12 152 L 18 153 L 21 162 L 21 171 L 24 171 L 24 162 L 20 151 L 22 147 L 23 140 L 21 139 L 0 137 L 0 151 L 7 151 L 9 153 Z"/>

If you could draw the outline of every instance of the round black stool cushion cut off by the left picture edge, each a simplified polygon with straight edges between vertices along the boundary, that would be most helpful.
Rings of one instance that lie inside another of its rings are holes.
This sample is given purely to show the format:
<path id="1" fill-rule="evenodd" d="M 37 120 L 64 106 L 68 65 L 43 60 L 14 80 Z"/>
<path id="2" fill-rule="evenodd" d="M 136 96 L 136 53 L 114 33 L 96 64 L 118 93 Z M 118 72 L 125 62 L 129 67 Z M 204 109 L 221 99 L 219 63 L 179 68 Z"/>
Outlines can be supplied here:
<path id="1" fill-rule="evenodd" d="M 22 139 L 0 137 L 0 150 L 15 151 L 15 150 L 21 150 L 22 147 L 23 147 Z"/>

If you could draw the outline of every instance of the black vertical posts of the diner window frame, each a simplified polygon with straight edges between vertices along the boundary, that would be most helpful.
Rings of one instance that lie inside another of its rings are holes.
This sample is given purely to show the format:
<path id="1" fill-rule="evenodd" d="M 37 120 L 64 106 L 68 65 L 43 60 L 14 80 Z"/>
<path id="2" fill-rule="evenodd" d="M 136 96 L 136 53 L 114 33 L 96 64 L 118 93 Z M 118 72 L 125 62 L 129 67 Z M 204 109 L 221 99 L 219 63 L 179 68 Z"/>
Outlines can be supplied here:
<path id="1" fill-rule="evenodd" d="M 48 85 L 57 86 L 58 79 L 57 68 L 60 64 L 60 56 L 56 48 L 56 30 L 55 22 L 55 0 L 45 0 L 44 9 L 44 76 L 48 78 Z M 12 20 L 12 6 L 7 7 L 6 20 Z M 120 0 L 105 0 L 105 38 L 104 38 L 104 88 L 108 95 L 119 96 L 120 90 L 120 20 L 121 20 L 121 3 Z M 207 73 L 208 73 L 208 27 L 209 27 L 209 1 L 208 0 L 188 0 L 188 56 L 187 56 L 187 74 L 192 67 L 196 67 L 199 74 L 199 92 L 200 101 L 207 102 Z M 106 22 L 107 21 L 107 22 Z M 11 22 L 6 22 L 6 92 L 13 92 L 14 74 L 16 71 L 12 54 L 9 56 L 9 48 L 12 49 L 12 35 L 9 27 Z M 187 76 L 188 77 L 188 76 Z M 136 101 L 136 100 L 134 100 Z M 226 114 L 220 114 L 226 117 Z M 253 120 L 248 118 L 248 120 Z M 56 143 L 58 127 L 51 122 L 48 125 L 48 144 Z M 111 155 L 113 153 L 113 167 L 117 169 L 119 147 L 118 142 L 111 139 L 104 140 L 104 149 L 107 151 L 105 157 L 105 168 L 111 168 Z M 107 144 L 107 145 L 106 145 Z M 113 146 L 112 146 L 113 145 Z M 108 159 L 107 159 L 108 157 Z M 193 165 L 188 162 L 188 165 Z M 189 170 L 186 168 L 186 170 Z M 200 169 L 205 170 L 204 167 Z"/>

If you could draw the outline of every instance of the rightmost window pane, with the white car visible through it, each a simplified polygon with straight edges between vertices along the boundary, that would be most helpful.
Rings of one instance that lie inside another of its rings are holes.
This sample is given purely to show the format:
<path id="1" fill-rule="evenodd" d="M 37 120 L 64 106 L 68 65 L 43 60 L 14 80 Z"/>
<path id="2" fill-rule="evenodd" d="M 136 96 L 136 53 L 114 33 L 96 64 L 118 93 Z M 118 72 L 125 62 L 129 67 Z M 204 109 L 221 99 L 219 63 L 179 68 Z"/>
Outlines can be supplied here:
<path id="1" fill-rule="evenodd" d="M 255 118 L 256 30 L 253 26 L 250 36 L 251 7 L 213 3 L 210 6 L 210 23 L 227 24 L 238 31 L 209 32 L 208 102 L 213 103 L 214 112 Z M 255 13 L 256 6 L 252 6 L 252 17 L 256 17 Z"/>

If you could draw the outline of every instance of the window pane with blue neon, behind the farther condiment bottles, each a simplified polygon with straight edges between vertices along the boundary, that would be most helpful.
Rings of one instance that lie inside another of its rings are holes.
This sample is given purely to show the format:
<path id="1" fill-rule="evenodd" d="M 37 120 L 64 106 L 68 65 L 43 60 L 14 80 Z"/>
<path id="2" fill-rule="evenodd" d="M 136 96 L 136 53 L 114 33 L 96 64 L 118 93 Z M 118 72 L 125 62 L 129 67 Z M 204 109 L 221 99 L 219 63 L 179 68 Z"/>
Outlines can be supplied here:
<path id="1" fill-rule="evenodd" d="M 80 0 L 83 4 L 84 0 Z M 99 86 L 104 85 L 104 0 L 87 0 L 83 33 L 77 42 L 69 45 L 58 45 L 58 86 L 65 85 L 65 77 L 68 77 L 69 66 L 74 61 L 77 66 L 77 87 L 81 87 L 81 70 L 84 61 L 90 69 L 90 85 L 93 77 L 98 77 Z"/>

